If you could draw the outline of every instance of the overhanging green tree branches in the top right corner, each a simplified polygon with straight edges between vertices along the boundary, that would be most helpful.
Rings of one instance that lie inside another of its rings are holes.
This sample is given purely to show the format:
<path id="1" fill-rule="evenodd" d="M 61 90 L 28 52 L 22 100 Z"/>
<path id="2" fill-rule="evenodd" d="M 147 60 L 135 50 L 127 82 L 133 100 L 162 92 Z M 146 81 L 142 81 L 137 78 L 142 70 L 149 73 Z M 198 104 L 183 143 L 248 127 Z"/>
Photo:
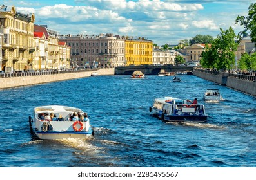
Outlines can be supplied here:
<path id="1" fill-rule="evenodd" d="M 241 26 L 244 26 L 244 30 L 239 32 L 240 39 L 243 34 L 250 33 L 251 42 L 256 42 L 256 4 L 251 4 L 248 10 L 248 16 L 237 16 L 235 24 L 240 23 Z"/>

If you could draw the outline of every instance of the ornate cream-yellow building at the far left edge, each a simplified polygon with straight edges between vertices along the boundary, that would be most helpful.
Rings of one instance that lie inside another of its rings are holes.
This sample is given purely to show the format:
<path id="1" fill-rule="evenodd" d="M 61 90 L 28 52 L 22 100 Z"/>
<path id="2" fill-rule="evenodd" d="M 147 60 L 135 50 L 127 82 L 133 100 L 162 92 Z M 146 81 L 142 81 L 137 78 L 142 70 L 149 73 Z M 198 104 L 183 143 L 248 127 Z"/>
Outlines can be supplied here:
<path id="1" fill-rule="evenodd" d="M 0 6 L 0 33 L 3 33 L 1 70 L 30 69 L 34 45 L 33 13 L 25 15 L 15 6 Z"/>

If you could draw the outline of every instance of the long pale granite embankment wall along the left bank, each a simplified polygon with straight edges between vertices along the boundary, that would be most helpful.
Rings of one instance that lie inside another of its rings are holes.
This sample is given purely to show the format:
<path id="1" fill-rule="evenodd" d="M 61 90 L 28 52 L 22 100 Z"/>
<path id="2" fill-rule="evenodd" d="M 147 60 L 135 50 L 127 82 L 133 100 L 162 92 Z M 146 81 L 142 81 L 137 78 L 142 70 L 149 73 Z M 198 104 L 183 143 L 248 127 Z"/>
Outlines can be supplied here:
<path id="1" fill-rule="evenodd" d="M 50 75 L 39 75 L 39 76 L 17 76 L 0 78 L 0 89 L 20 87 L 34 84 L 44 84 L 48 82 L 57 82 L 63 80 L 71 80 L 77 78 L 85 78 L 91 76 L 93 72 L 99 73 L 99 75 L 114 75 L 115 69 L 98 69 L 95 71 L 74 71 L 71 73 L 57 73 Z"/>

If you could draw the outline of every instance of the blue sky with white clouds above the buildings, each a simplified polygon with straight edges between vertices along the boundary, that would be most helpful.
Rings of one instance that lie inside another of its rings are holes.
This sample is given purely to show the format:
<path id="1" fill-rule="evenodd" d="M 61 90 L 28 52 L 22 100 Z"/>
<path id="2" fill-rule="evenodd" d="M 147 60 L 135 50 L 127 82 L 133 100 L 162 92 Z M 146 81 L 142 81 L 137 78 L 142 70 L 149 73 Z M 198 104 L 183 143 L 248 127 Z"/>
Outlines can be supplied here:
<path id="1" fill-rule="evenodd" d="M 47 25 L 60 35 L 113 33 L 146 37 L 158 46 L 178 44 L 196 35 L 217 37 L 235 24 L 238 15 L 248 16 L 248 0 L 27 0 L 0 1 L 17 12 L 34 13 L 35 24 Z"/>

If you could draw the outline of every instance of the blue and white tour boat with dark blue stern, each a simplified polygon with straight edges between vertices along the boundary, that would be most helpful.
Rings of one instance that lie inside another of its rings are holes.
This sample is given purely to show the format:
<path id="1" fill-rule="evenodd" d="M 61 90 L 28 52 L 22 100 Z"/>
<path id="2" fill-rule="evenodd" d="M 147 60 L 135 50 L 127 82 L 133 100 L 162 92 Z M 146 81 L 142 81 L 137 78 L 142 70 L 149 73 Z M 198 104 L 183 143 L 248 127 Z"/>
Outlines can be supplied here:
<path id="1" fill-rule="evenodd" d="M 156 98 L 150 112 L 167 122 L 205 122 L 207 115 L 204 105 L 192 104 L 190 100 L 163 97 Z"/>

